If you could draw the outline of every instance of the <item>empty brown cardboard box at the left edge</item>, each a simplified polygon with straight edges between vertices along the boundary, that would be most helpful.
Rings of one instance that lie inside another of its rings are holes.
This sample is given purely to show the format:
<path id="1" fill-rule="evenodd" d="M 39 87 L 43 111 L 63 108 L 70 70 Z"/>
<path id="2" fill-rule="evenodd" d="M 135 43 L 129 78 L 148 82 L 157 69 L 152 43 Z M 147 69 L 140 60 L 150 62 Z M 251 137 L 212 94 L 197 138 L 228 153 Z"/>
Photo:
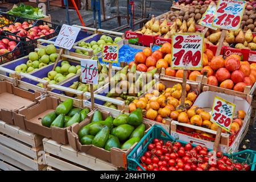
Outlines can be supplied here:
<path id="1" fill-rule="evenodd" d="M 39 92 L 31 93 L 14 87 L 7 81 L 0 81 L 0 119 L 14 125 L 14 114 L 23 107 L 30 107 L 36 104 Z"/>

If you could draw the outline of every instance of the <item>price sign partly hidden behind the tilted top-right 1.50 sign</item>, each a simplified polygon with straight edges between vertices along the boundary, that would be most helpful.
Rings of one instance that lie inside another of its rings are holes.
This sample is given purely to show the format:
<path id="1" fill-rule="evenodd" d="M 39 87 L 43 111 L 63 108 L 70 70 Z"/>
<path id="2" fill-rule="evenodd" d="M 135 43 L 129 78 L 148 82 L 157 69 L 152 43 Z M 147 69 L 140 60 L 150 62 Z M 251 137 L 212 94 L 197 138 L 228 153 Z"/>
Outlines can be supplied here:
<path id="1" fill-rule="evenodd" d="M 209 5 L 208 9 L 205 11 L 205 13 L 203 14 L 199 24 L 208 27 L 208 28 L 212 28 L 213 30 L 217 30 L 216 27 L 212 26 L 212 22 L 213 22 L 213 18 L 214 18 L 214 14 L 216 11 L 216 5 Z"/>

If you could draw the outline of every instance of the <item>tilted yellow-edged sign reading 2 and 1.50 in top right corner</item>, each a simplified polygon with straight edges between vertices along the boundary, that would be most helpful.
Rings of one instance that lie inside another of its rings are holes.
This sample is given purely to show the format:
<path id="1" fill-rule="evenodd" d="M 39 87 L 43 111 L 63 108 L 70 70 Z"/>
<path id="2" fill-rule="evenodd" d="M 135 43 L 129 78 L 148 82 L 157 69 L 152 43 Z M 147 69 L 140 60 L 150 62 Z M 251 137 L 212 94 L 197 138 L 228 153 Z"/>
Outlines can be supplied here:
<path id="1" fill-rule="evenodd" d="M 245 5 L 246 1 L 219 0 L 212 26 L 225 30 L 238 30 Z"/>

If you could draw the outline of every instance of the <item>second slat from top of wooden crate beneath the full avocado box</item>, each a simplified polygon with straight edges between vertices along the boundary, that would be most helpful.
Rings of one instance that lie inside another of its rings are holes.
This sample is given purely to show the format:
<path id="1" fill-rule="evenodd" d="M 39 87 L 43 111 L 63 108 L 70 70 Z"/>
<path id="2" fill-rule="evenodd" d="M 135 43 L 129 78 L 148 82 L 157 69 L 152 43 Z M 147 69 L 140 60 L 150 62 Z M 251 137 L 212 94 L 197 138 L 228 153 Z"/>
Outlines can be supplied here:
<path id="1" fill-rule="evenodd" d="M 77 167 L 71 163 L 65 162 L 64 160 L 57 159 L 54 156 L 48 154 L 45 155 L 46 164 L 53 168 L 59 169 L 60 171 L 87 171 L 84 168 Z"/>

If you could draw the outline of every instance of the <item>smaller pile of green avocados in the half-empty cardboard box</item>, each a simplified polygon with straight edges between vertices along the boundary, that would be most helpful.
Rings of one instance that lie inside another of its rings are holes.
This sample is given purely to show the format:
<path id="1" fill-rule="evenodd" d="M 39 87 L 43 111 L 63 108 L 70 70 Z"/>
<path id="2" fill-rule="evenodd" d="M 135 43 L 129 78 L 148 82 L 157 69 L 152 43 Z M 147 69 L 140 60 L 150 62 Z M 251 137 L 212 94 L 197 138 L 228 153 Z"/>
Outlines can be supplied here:
<path id="1" fill-rule="evenodd" d="M 59 104 L 55 111 L 46 114 L 41 122 L 46 127 L 68 127 L 73 125 L 73 123 L 84 121 L 89 112 L 88 108 L 73 108 L 73 100 L 69 98 Z"/>

